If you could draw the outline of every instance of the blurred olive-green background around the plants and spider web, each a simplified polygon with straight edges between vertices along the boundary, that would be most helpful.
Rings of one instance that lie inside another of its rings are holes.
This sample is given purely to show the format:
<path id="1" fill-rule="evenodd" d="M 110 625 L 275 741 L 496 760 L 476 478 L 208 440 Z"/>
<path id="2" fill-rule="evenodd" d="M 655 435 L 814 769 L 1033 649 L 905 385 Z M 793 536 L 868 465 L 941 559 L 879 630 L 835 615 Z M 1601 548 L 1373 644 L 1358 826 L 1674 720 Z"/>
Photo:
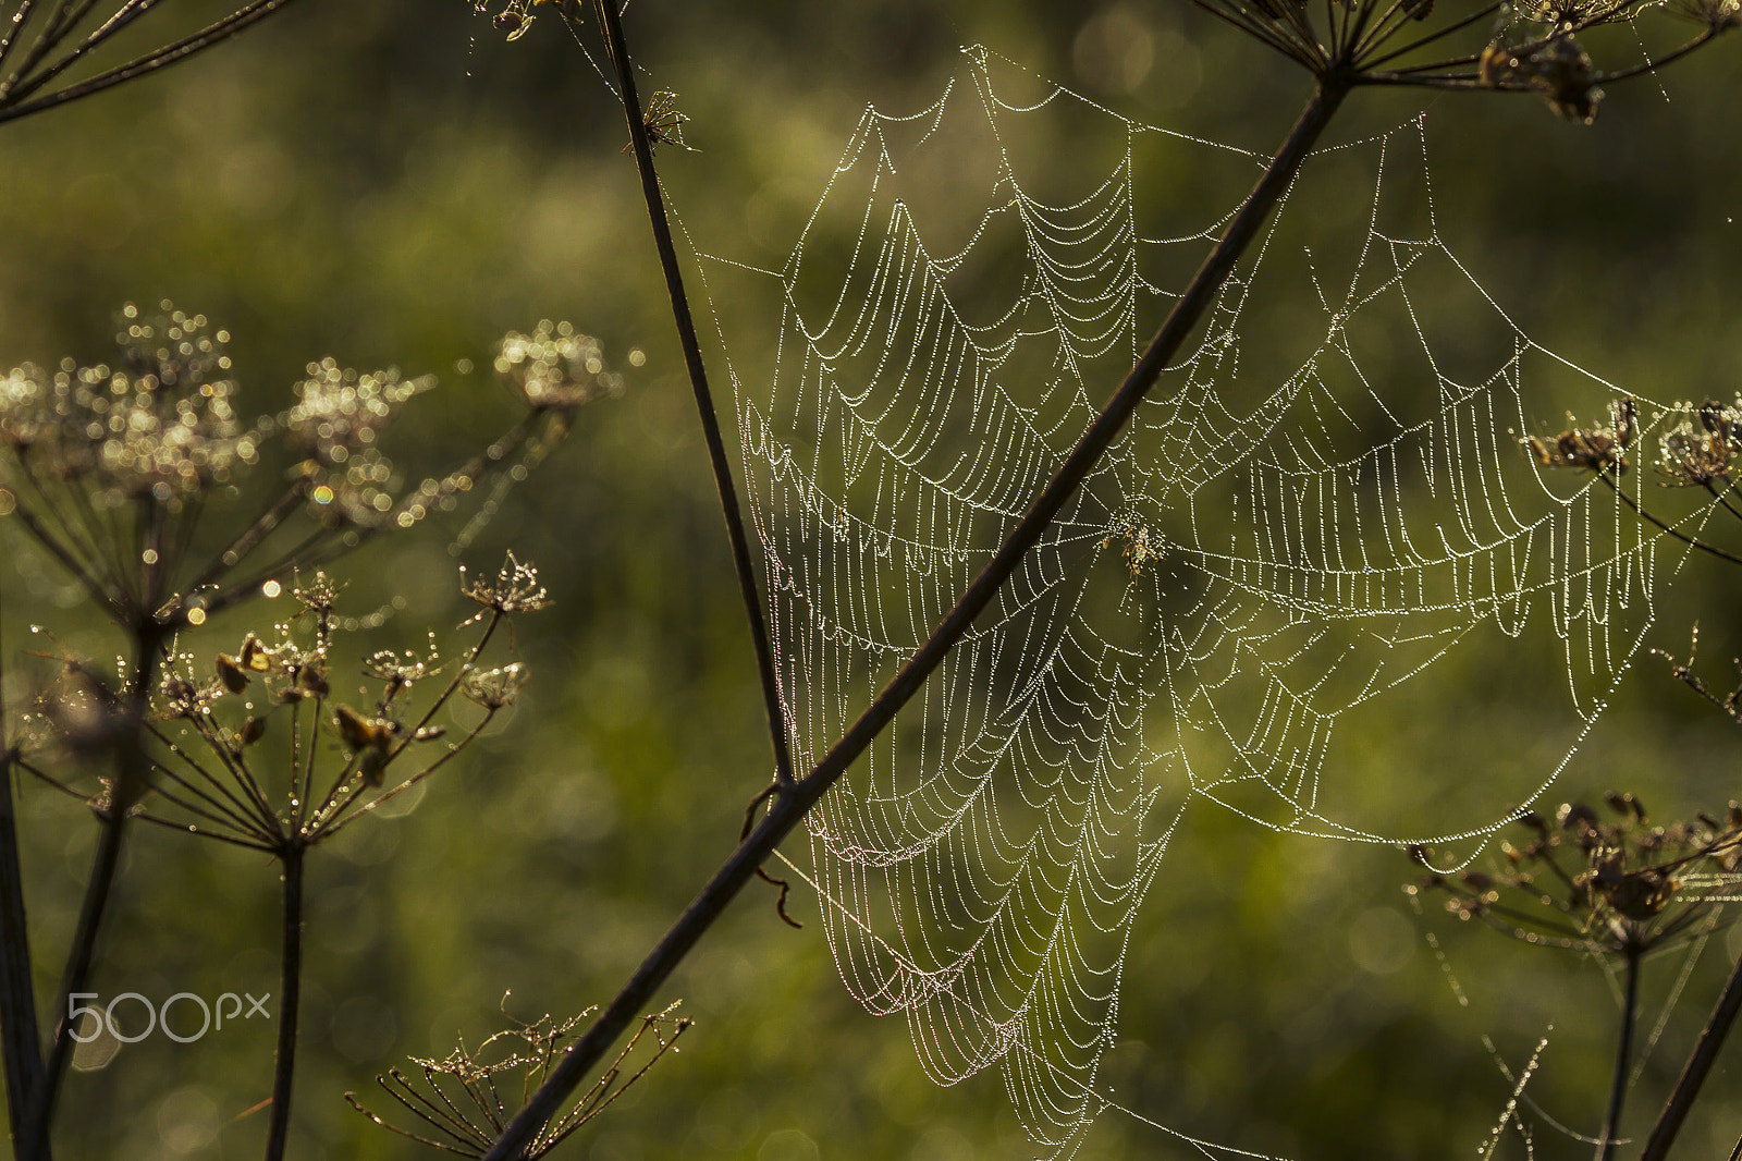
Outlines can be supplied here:
<path id="1" fill-rule="evenodd" d="M 678 91 L 695 117 L 686 139 L 700 152 L 660 153 L 674 207 L 702 249 L 754 263 L 786 253 L 866 101 L 923 106 L 965 44 L 1132 117 L 1259 152 L 1306 91 L 1298 71 L 1178 0 L 638 0 L 627 30 L 643 89 Z M 1108 47 L 1127 45 L 1131 30 L 1148 38 L 1146 64 Z M 1589 129 L 1526 99 L 1362 92 L 1333 138 L 1430 108 L 1441 228 L 1531 336 L 1653 397 L 1730 397 L 1742 350 L 1735 99 L 1733 45 L 1718 45 L 1617 89 Z M 509 328 L 573 319 L 627 371 L 625 394 L 584 410 L 465 553 L 493 568 L 512 547 L 557 596 L 517 635 L 535 680 L 516 715 L 415 811 L 355 826 L 312 859 L 296 1158 L 415 1152 L 340 1095 L 409 1055 L 446 1055 L 460 1034 L 483 1039 L 503 1025 L 503 1006 L 531 1018 L 606 1001 L 732 849 L 744 802 L 768 777 L 749 642 L 624 136 L 559 19 L 542 16 L 505 44 L 460 0 L 310 2 L 157 78 L 0 126 L 5 366 L 103 359 L 122 302 L 172 298 L 233 333 L 246 399 L 263 411 L 327 354 L 437 373 L 439 390 L 390 438 L 408 471 L 441 469 L 476 450 L 477 432 L 512 422 L 486 373 L 456 371 L 488 368 Z M 1239 194 L 1205 197 L 1226 209 Z M 728 333 L 730 322 L 728 309 Z M 629 366 L 631 349 L 645 366 Z M 1536 418 L 1561 425 L 1559 411 Z M 446 551 L 463 521 L 387 539 L 334 570 L 359 614 L 404 598 L 355 652 L 416 645 L 425 629 L 446 636 L 467 615 Z M 7 533 L 9 664 L 30 622 L 75 652 L 111 655 L 120 642 L 40 560 L 14 554 Z M 1716 682 L 1739 633 L 1728 580 L 1700 561 L 1679 570 L 1651 640 L 1679 650 L 1698 619 Z M 213 647 L 273 612 L 228 615 Z M 1467 652 L 1387 737 L 1340 736 L 1333 762 L 1347 764 L 1345 779 L 1371 779 L 1376 809 L 1408 814 L 1425 800 L 1397 777 L 1399 762 L 1448 769 L 1451 753 L 1462 790 L 1502 811 L 1517 779 L 1495 791 L 1475 779 L 1516 767 L 1540 730 L 1523 694 L 1495 692 L 1510 664 Z M 1665 819 L 1721 805 L 1739 793 L 1732 732 L 1641 664 L 1556 800 L 1613 786 Z M 94 828 L 52 791 L 26 783 L 21 795 L 49 994 Z M 791 847 L 801 859 L 803 844 Z M 1151 893 L 1131 950 L 1124 1039 L 1106 1065 L 1118 1103 L 1266 1154 L 1465 1154 L 1510 1091 L 1482 1037 L 1519 1069 L 1552 1022 L 1529 1091 L 1594 1131 L 1615 1022 L 1594 964 L 1418 919 L 1399 891 L 1413 868 L 1388 849 L 1279 837 L 1202 809 L 1169 861 L 1174 875 Z M 136 833 L 94 987 L 275 990 L 275 882 L 267 859 Z M 815 900 L 800 891 L 794 910 L 814 919 Z M 1444 964 L 1423 941 L 1430 931 Z M 1636 1114 L 1662 1098 L 1737 950 L 1732 938 L 1726 955 L 1719 936 L 1695 966 Z M 1658 1001 L 1679 962 L 1651 966 Z M 1030 1154 L 996 1072 L 934 1088 L 908 1029 L 850 1001 L 817 924 L 784 927 L 758 887 L 665 995 L 697 1020 L 681 1055 L 557 1156 Z M 61 1156 L 253 1156 L 265 1117 L 239 1114 L 268 1093 L 270 1056 L 258 1023 L 131 1046 L 71 1077 Z M 1711 1083 L 1686 1156 L 1733 1144 L 1737 1076 Z M 1141 1117 L 1104 1112 L 1080 1156 L 1200 1156 Z M 1543 1133 L 1536 1151 L 1589 1147 Z M 1516 1135 L 1502 1156 L 1523 1156 Z"/>

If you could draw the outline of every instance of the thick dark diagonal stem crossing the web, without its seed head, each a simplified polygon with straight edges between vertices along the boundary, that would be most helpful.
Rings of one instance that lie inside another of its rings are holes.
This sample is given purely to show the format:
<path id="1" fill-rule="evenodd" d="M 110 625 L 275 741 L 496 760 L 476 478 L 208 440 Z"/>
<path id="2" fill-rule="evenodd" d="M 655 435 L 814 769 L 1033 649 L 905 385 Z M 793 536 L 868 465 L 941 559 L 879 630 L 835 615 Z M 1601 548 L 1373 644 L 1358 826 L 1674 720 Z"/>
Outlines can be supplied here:
<path id="1" fill-rule="evenodd" d="M 1016 572 L 1017 565 L 1021 565 L 1028 549 L 1040 540 L 1059 509 L 1064 507 L 1064 502 L 1089 476 L 1089 471 L 1099 462 L 1113 439 L 1118 438 L 1118 432 L 1124 431 L 1138 403 L 1143 401 L 1144 392 L 1155 385 L 1167 363 L 1197 328 L 1198 319 L 1228 281 L 1240 255 L 1258 237 L 1259 228 L 1270 218 L 1270 211 L 1293 185 L 1313 141 L 1319 139 L 1319 134 L 1331 122 L 1343 98 L 1348 94 L 1350 84 L 1350 78 L 1341 73 L 1320 77 L 1300 120 L 1294 122 L 1289 136 L 1282 141 L 1282 148 L 1277 150 L 1275 159 L 1228 223 L 1228 232 L 1223 234 L 1221 241 L 1204 260 L 1204 265 L 1192 277 L 1190 286 L 1174 302 L 1174 309 L 1150 340 L 1143 357 L 1089 425 L 1089 431 L 1078 439 L 1052 481 L 1028 507 L 998 551 L 993 553 L 986 568 L 969 584 L 956 607 L 939 622 L 908 664 L 901 668 L 847 734 L 824 755 L 822 762 L 803 781 L 793 786 L 789 793 L 773 798 L 773 805 L 761 825 L 721 865 L 707 886 L 702 887 L 702 893 L 695 896 L 678 922 L 671 926 L 624 985 L 622 992 L 617 994 L 592 1027 L 587 1029 L 587 1034 L 575 1041 L 545 1084 L 533 1093 L 507 1131 L 496 1138 L 484 1161 L 514 1161 L 521 1156 L 538 1128 L 557 1112 L 563 1100 L 575 1088 L 585 1083 L 592 1067 L 652 1001 L 653 992 L 683 962 L 697 940 L 719 919 L 721 912 L 725 912 L 744 884 L 749 882 L 763 859 L 773 852 L 775 845 L 800 823 L 805 812 L 827 793 L 829 786 L 847 772 L 847 767 L 866 751 L 871 739 L 894 720 L 895 713 L 925 683 L 932 669 L 962 640 L 969 626 L 972 626 L 974 617 L 991 603 L 991 598 L 1010 574 Z"/>

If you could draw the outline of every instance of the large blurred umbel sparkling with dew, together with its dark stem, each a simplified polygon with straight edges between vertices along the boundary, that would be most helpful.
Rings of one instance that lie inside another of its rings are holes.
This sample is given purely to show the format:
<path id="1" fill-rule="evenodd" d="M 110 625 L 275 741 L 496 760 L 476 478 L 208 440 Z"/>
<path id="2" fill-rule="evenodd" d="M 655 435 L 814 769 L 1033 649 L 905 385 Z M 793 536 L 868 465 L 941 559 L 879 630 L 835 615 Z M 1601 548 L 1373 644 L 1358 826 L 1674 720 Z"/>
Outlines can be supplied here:
<path id="1" fill-rule="evenodd" d="M 293 406 L 247 422 L 228 342 L 206 316 L 169 302 L 153 316 L 129 303 L 113 361 L 63 359 L 52 371 L 24 364 L 0 375 L 0 516 L 9 518 L 0 528 L 33 540 L 127 640 L 105 718 L 113 772 L 94 800 L 101 837 L 49 1008 L 57 1020 L 47 1060 L 35 1051 L 33 1018 L 19 1015 L 23 988 L 9 990 L 17 999 L 0 1020 L 7 1076 L 21 1077 L 7 1091 L 26 1156 L 47 1147 L 73 1044 L 59 1015 L 73 992 L 87 990 L 127 823 L 159 788 L 146 744 L 152 699 L 178 633 L 453 507 L 481 479 L 523 479 L 568 431 L 573 408 L 592 397 L 523 397 L 500 438 L 408 488 L 383 436 L 432 378 L 402 378 L 392 368 L 357 373 L 324 359 L 308 364 Z M 280 483 L 260 500 L 244 486 L 273 476 Z M 483 507 L 493 511 L 495 502 Z M 64 687 L 78 683 L 92 680 L 73 673 Z M 16 845 L 9 833 L 0 838 Z M 23 898 L 14 868 L 16 859 L 0 858 L 0 898 Z M 0 974 L 28 980 L 28 938 L 14 927 L 0 947 Z M 23 1107 L 26 1090 L 33 1095 Z"/>

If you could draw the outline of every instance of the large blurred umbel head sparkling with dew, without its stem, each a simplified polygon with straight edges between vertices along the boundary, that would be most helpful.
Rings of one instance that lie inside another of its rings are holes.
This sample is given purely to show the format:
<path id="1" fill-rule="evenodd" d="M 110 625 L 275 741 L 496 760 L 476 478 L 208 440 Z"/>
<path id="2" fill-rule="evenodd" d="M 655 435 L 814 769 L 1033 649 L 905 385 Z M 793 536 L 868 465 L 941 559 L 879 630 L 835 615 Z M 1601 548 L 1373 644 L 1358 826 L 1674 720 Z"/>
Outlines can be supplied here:
<path id="1" fill-rule="evenodd" d="M 0 513 L 111 621 L 164 633 L 453 506 L 517 448 L 542 455 L 577 406 L 622 387 L 598 342 L 568 322 L 510 333 L 496 363 L 521 418 L 460 467 L 406 488 L 383 434 L 434 378 L 321 359 L 287 410 L 244 422 L 230 335 L 206 316 L 129 303 L 115 340 L 113 363 L 26 363 L 0 377 Z M 239 485 L 268 462 L 284 467 L 277 493 L 214 533 L 214 509 L 244 507 L 258 492 Z"/>

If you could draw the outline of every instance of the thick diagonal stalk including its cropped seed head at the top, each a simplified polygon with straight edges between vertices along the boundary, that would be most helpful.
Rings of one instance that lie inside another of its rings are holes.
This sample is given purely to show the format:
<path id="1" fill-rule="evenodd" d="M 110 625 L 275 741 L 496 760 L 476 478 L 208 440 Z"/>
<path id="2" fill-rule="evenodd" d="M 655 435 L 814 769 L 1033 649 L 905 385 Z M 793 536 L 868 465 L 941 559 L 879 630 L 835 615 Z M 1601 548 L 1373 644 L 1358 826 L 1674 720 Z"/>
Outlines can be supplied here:
<path id="1" fill-rule="evenodd" d="M 1232 218 L 1221 241 L 1211 249 L 1192 282 L 1174 302 L 1160 329 L 1096 420 L 1084 432 L 1054 478 L 1028 506 L 1021 521 L 969 584 L 923 645 L 871 701 L 847 734 L 822 757 L 808 776 L 791 786 L 779 786 L 768 798 L 761 825 L 744 838 L 737 852 L 716 872 L 702 893 L 665 933 L 658 945 L 629 978 L 599 1020 L 577 1042 L 550 1079 L 533 1095 L 526 1109 L 491 1149 L 491 1161 L 509 1161 L 526 1145 L 537 1126 L 549 1121 L 561 1100 L 582 1084 L 610 1044 L 622 1035 L 636 1013 L 653 999 L 665 976 L 688 955 L 695 941 L 719 917 L 732 898 L 756 873 L 775 845 L 800 823 L 812 805 L 847 772 L 895 713 L 920 690 L 930 673 L 969 631 L 974 619 L 1017 570 L 1028 551 L 1057 518 L 1066 500 L 1113 445 L 1136 413 L 1143 396 L 1172 363 L 1185 340 L 1197 329 L 1204 310 L 1216 300 L 1233 274 L 1247 246 L 1258 237 L 1277 202 L 1294 183 L 1313 143 L 1333 120 L 1343 99 L 1367 85 L 1413 85 L 1425 89 L 1479 89 L 1533 92 L 1568 119 L 1589 122 L 1603 96 L 1601 85 L 1625 80 L 1716 38 L 1737 24 L 1739 0 L 1681 0 L 1664 9 L 1695 24 L 1683 44 L 1657 59 L 1603 71 L 1578 37 L 1604 24 L 1624 24 L 1643 12 L 1622 0 L 1531 0 L 1517 7 L 1500 3 L 1439 3 L 1432 0 L 1193 0 L 1197 7 L 1223 19 L 1252 40 L 1305 68 L 1313 91 L 1294 127 L 1277 150 L 1265 174 Z M 526 16 L 523 0 L 507 12 Z M 577 5 L 561 5 L 573 19 Z M 629 73 L 629 52 L 617 28 L 617 14 L 608 3 L 598 5 L 598 19 L 606 28 L 613 61 Z M 524 31 L 516 24 L 516 35 Z M 646 126 L 631 108 L 631 134 L 636 157 L 652 174 L 652 148 Z M 650 185 L 653 183 L 648 178 Z M 652 199 L 650 199 L 652 204 Z M 652 206 L 650 206 L 652 207 Z M 658 214 L 653 214 L 658 241 Z M 674 296 L 674 312 L 686 305 Z M 726 492 L 723 490 L 723 500 Z M 726 521 L 733 511 L 726 507 Z M 742 518 L 735 537 L 742 537 Z M 751 614 L 754 633 L 756 614 Z M 770 723 L 775 744 L 780 725 Z"/>

